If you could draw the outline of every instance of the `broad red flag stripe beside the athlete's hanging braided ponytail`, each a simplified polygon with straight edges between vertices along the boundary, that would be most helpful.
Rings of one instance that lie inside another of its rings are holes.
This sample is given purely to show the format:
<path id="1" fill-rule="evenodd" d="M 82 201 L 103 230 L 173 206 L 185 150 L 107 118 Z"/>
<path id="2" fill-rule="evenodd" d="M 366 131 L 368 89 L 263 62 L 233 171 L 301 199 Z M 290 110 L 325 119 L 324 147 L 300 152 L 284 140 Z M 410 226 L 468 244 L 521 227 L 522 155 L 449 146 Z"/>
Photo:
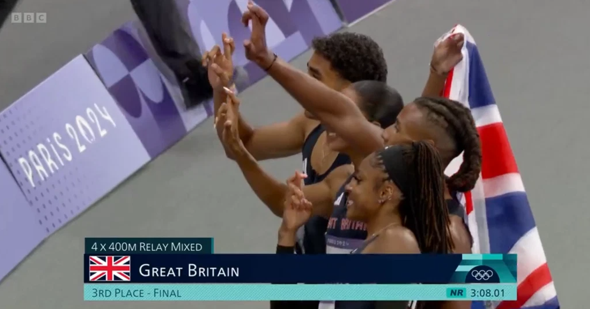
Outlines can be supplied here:
<path id="1" fill-rule="evenodd" d="M 481 141 L 481 177 L 494 178 L 508 173 L 518 173 L 510 142 L 501 122 L 477 128 Z"/>

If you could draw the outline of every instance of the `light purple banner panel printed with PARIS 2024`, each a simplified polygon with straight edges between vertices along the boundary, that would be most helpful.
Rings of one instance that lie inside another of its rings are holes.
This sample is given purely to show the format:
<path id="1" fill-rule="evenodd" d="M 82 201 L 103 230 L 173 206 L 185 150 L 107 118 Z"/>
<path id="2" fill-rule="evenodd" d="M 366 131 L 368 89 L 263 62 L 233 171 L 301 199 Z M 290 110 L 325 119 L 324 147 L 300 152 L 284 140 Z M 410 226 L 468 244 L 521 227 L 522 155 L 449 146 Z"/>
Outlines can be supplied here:
<path id="1" fill-rule="evenodd" d="M 150 160 L 83 56 L 0 113 L 0 145 L 47 235 Z"/>

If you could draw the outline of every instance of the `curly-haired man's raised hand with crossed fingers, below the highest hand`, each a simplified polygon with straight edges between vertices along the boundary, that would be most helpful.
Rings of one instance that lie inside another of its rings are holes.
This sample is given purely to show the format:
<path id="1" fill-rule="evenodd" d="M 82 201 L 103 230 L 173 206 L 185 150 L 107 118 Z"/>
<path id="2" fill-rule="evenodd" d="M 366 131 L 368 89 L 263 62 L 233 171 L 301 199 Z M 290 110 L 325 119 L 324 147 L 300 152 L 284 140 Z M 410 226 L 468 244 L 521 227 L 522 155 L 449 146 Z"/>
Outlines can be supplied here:
<path id="1" fill-rule="evenodd" d="M 207 67 L 207 76 L 211 87 L 221 91 L 223 87 L 229 87 L 234 77 L 234 63 L 232 55 L 235 51 L 234 39 L 228 37 L 225 32 L 221 35 L 224 51 L 221 53 L 219 45 L 215 45 L 202 58 L 203 66 Z"/>

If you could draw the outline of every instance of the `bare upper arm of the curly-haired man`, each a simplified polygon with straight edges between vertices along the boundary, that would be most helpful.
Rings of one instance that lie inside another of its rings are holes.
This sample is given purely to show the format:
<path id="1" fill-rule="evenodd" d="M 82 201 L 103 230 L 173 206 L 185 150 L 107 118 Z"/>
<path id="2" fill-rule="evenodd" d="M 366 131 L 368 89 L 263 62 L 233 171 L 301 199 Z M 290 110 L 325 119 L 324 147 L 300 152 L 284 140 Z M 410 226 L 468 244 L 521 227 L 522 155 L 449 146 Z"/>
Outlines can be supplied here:
<path id="1" fill-rule="evenodd" d="M 254 129 L 245 147 L 256 160 L 284 158 L 301 152 L 309 119 L 303 113 L 290 121 Z"/>

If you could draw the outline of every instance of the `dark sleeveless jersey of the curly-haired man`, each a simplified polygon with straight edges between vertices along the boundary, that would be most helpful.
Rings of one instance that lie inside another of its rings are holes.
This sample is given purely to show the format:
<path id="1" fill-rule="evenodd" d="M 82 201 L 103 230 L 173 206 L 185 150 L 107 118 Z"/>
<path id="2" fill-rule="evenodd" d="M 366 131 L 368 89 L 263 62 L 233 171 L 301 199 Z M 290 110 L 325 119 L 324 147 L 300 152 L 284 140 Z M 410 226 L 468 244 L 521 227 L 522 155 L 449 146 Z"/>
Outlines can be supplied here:
<path id="1" fill-rule="evenodd" d="M 303 143 L 301 148 L 301 155 L 303 157 L 303 173 L 307 174 L 307 178 L 303 180 L 303 183 L 307 186 L 310 184 L 319 183 L 324 180 L 332 170 L 339 167 L 340 165 L 350 164 L 350 158 L 344 154 L 338 154 L 330 168 L 325 173 L 319 174 L 313 170 L 312 167 L 312 152 L 314 146 L 317 144 L 317 140 L 320 135 L 325 131 L 322 125 L 316 126 Z M 326 253 L 326 227 L 328 220 L 320 216 L 313 216 L 307 221 L 307 223 L 297 231 L 297 245 L 296 252 L 298 254 L 322 254 Z"/>

